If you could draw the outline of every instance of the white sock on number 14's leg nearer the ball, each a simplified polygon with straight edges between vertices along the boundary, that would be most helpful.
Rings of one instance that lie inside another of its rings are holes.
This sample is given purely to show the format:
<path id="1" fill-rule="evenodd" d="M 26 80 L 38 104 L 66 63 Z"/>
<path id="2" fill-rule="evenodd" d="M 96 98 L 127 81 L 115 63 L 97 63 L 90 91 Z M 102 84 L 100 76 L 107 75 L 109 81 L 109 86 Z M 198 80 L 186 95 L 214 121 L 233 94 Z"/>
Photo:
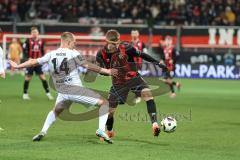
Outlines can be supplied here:
<path id="1" fill-rule="evenodd" d="M 99 129 L 105 131 L 105 125 L 109 114 L 109 103 L 102 105 L 99 108 Z"/>

